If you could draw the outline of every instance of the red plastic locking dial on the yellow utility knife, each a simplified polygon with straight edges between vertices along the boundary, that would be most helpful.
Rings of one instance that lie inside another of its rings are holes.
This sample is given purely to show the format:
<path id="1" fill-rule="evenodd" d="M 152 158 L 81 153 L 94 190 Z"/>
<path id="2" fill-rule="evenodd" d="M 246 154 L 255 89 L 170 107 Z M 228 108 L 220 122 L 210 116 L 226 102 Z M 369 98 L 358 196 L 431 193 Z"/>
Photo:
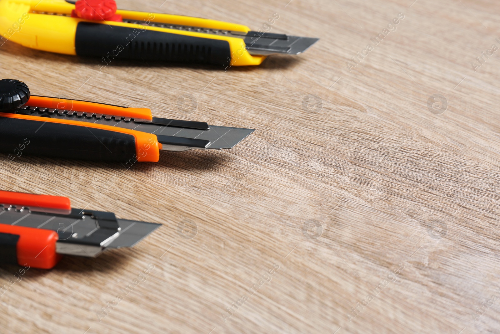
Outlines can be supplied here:
<path id="1" fill-rule="evenodd" d="M 92 21 L 122 21 L 121 15 L 115 14 L 114 0 L 78 0 L 74 6 L 72 17 Z"/>

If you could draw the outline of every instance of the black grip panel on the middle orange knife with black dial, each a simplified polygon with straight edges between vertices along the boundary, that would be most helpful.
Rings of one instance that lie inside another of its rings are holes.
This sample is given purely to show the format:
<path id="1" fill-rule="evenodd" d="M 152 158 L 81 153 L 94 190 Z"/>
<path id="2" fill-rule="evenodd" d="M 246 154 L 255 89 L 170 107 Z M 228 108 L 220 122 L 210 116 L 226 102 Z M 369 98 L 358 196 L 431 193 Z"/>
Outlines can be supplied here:
<path id="1" fill-rule="evenodd" d="M 0 117 L 0 143 L 0 152 L 8 157 L 135 160 L 134 136 L 85 126 Z"/>

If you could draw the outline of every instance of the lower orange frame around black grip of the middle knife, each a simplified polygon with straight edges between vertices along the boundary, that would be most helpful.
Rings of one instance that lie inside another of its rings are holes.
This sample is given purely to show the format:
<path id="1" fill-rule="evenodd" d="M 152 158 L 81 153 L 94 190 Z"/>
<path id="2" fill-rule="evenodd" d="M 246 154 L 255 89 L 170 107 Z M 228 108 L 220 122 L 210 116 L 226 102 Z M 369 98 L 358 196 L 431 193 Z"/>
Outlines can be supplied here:
<path id="1" fill-rule="evenodd" d="M 48 107 L 46 107 L 48 108 Z M 8 117 L 8 118 L 17 118 L 24 119 L 30 121 L 39 121 L 39 122 L 50 122 L 50 123 L 59 123 L 59 124 L 68 124 L 68 125 L 76 125 L 76 126 L 85 126 L 88 128 L 101 129 L 107 131 L 120 132 L 127 135 L 132 135 L 135 138 L 135 159 L 139 162 L 157 162 L 159 160 L 159 150 L 161 149 L 161 144 L 158 143 L 158 138 L 156 135 L 135 131 L 130 129 L 112 127 L 110 125 L 103 124 L 95 124 L 89 122 L 81 122 L 81 121 L 73 121 L 73 120 L 65 120 L 65 119 L 56 119 L 56 118 L 47 118 L 47 117 L 38 117 L 31 115 L 18 115 L 18 114 L 10 114 L 10 113 L 0 113 L 0 117 Z M 40 123 L 41 124 L 41 123 Z"/>

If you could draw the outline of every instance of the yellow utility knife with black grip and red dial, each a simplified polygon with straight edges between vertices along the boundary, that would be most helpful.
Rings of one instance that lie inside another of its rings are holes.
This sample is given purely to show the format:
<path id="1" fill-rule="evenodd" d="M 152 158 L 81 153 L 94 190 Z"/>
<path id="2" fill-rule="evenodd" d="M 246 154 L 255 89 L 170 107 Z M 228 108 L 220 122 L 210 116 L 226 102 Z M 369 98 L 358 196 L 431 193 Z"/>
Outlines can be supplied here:
<path id="1" fill-rule="evenodd" d="M 270 19 L 273 23 L 276 18 Z M 7 40 L 66 55 L 230 66 L 296 55 L 318 39 L 251 31 L 228 22 L 123 11 L 114 0 L 0 0 L 0 46 Z"/>

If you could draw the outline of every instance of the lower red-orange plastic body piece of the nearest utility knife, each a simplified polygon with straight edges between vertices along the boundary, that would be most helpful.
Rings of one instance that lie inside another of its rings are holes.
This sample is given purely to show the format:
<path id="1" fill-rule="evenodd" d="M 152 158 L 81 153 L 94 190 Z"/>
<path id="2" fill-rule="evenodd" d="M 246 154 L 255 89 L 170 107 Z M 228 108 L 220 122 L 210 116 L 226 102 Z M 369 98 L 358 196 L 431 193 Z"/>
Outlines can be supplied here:
<path id="1" fill-rule="evenodd" d="M 19 265 L 51 269 L 61 259 L 61 255 L 55 252 L 55 243 L 59 239 L 55 231 L 0 224 L 0 233 L 19 235 L 16 245 Z"/>

